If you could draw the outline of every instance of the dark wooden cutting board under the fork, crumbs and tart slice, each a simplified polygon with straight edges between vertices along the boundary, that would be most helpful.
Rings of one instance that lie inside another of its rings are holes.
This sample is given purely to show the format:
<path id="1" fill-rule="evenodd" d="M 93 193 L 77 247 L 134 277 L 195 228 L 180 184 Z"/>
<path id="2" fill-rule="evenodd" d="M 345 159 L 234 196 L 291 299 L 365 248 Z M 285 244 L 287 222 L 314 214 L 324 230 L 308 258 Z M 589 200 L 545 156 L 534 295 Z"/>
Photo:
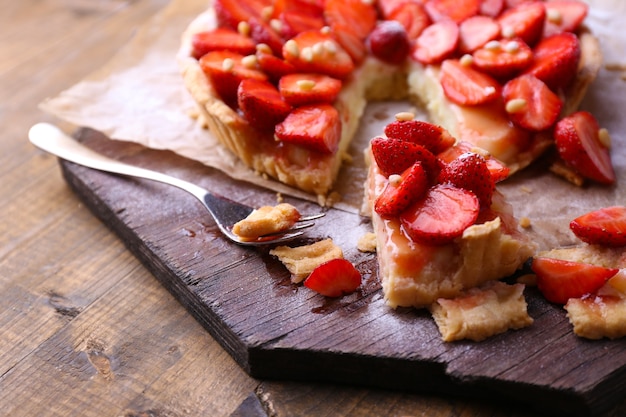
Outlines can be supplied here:
<path id="1" fill-rule="evenodd" d="M 110 141 L 88 129 L 77 137 L 116 159 L 234 200 L 276 202 L 274 192 L 170 152 Z M 292 284 L 269 249 L 225 240 L 184 191 L 68 162 L 61 167 L 84 203 L 253 377 L 514 401 L 551 415 L 600 415 L 626 395 L 626 339 L 576 337 L 565 311 L 533 288 L 526 295 L 535 323 L 480 343 L 443 343 L 428 312 L 388 308 L 375 255 L 356 249 L 370 230 L 366 218 L 331 209 L 297 242 L 331 237 L 363 273 L 359 291 L 327 299 Z M 301 212 L 320 210 L 287 201 Z"/>

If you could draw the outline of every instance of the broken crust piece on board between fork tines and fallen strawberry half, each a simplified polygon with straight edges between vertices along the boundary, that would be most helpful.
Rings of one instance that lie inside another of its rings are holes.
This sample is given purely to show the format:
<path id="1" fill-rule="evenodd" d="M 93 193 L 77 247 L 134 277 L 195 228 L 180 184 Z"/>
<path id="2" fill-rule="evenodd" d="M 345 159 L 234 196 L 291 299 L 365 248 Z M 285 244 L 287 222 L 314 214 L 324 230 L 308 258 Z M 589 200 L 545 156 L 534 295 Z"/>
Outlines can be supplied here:
<path id="1" fill-rule="evenodd" d="M 332 239 L 324 239 L 295 248 L 278 246 L 270 251 L 270 255 L 276 256 L 291 272 L 293 283 L 299 283 L 324 262 L 343 258 L 343 251 Z"/>

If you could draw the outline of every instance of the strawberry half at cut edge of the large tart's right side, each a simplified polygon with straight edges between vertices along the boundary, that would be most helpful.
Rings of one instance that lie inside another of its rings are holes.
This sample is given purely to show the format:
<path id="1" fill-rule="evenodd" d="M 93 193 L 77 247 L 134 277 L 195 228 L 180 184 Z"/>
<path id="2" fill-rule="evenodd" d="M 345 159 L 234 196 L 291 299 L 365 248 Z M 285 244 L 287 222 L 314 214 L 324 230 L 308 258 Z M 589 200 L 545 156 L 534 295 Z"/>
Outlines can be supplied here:
<path id="1" fill-rule="evenodd" d="M 494 101 L 500 97 L 502 89 L 491 76 L 463 65 L 458 59 L 443 61 L 439 81 L 446 97 L 462 106 Z"/>

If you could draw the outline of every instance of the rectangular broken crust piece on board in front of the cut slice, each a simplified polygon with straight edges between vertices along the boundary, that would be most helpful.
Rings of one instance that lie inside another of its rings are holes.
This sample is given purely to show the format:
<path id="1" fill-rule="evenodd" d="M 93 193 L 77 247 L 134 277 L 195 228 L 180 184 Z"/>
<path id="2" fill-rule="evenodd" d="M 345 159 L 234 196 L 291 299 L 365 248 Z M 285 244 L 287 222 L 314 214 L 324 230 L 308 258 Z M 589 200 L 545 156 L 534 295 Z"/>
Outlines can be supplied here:
<path id="1" fill-rule="evenodd" d="M 490 281 L 453 299 L 440 298 L 431 307 L 444 342 L 476 342 L 509 329 L 530 326 L 524 285 Z"/>

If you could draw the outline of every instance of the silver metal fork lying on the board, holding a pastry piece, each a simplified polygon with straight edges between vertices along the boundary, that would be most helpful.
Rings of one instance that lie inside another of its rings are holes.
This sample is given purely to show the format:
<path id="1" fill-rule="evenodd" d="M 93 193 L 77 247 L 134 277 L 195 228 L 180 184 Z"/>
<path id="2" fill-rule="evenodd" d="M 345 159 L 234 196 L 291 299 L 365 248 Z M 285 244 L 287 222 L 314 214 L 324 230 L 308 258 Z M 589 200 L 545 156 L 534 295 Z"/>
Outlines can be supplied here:
<path id="1" fill-rule="evenodd" d="M 325 214 L 302 216 L 291 229 L 280 233 L 261 236 L 256 240 L 242 239 L 232 232 L 233 225 L 247 217 L 254 210 L 253 207 L 210 193 L 190 182 L 101 155 L 48 123 L 38 123 L 31 127 L 28 137 L 33 145 L 67 161 L 100 171 L 158 181 L 187 191 L 206 207 L 221 232 L 240 245 L 260 246 L 292 240 L 304 233 L 302 229 L 313 226 L 315 223 L 312 220 L 319 219 Z"/>

